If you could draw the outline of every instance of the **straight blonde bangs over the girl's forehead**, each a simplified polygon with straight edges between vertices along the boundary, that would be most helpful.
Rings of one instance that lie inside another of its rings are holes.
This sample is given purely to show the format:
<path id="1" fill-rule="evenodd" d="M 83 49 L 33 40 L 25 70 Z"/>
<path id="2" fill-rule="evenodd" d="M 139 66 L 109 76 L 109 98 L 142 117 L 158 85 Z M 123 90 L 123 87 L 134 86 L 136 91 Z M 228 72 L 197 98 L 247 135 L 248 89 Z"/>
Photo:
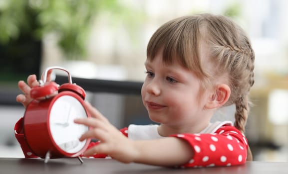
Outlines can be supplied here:
<path id="1" fill-rule="evenodd" d="M 152 35 L 147 46 L 147 60 L 153 61 L 162 51 L 162 61 L 167 65 L 180 63 L 195 72 L 201 79 L 205 76 L 199 55 L 199 21 L 191 16 L 176 18 L 163 24 Z"/>

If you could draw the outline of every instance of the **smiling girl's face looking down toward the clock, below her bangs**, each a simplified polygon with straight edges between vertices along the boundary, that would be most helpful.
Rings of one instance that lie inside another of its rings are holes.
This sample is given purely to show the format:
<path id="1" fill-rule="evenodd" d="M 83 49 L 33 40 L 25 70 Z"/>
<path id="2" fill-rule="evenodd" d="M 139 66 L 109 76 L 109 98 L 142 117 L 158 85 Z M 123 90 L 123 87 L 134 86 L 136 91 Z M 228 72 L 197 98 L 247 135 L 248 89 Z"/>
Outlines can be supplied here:
<path id="1" fill-rule="evenodd" d="M 142 101 L 152 121 L 173 127 L 207 126 L 205 101 L 200 80 L 174 62 L 165 65 L 159 52 L 153 62 L 146 61 L 147 77 L 141 89 Z"/>

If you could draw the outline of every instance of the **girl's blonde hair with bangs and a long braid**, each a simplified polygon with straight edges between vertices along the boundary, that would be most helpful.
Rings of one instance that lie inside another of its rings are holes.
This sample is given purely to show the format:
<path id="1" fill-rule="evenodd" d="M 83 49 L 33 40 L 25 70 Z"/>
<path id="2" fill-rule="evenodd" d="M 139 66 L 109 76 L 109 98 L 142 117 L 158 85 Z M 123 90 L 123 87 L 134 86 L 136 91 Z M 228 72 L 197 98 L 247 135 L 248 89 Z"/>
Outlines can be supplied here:
<path id="1" fill-rule="evenodd" d="M 204 68 L 201 46 L 206 46 L 208 61 L 215 70 Z M 226 105 L 235 104 L 235 127 L 245 131 L 249 114 L 249 91 L 254 84 L 254 51 L 241 27 L 222 15 L 199 14 L 183 16 L 163 24 L 151 37 L 147 59 L 153 61 L 163 50 L 163 62 L 178 61 L 193 71 L 203 82 L 203 89 L 225 76 L 231 88 Z"/>

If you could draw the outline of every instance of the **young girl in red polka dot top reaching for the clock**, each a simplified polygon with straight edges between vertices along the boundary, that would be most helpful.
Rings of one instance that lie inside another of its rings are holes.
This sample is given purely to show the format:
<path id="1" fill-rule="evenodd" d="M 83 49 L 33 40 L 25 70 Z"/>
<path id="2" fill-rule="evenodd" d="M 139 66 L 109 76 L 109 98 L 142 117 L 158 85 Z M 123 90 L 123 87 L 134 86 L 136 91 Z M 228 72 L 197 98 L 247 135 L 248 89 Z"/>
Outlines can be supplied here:
<path id="1" fill-rule="evenodd" d="M 119 134 L 85 103 L 92 118 L 75 123 L 92 129 L 80 140 L 100 143 L 91 144 L 84 156 L 107 154 L 123 163 L 169 167 L 233 166 L 252 160 L 244 129 L 254 84 L 254 51 L 238 25 L 212 14 L 168 21 L 150 39 L 145 67 L 142 101 L 159 125 L 130 125 Z M 24 93 L 38 85 L 35 75 L 27 84 L 18 83 Z M 23 94 L 16 99 L 24 106 L 31 100 Z M 231 104 L 236 105 L 234 126 L 230 121 L 210 123 L 218 108 Z"/>

